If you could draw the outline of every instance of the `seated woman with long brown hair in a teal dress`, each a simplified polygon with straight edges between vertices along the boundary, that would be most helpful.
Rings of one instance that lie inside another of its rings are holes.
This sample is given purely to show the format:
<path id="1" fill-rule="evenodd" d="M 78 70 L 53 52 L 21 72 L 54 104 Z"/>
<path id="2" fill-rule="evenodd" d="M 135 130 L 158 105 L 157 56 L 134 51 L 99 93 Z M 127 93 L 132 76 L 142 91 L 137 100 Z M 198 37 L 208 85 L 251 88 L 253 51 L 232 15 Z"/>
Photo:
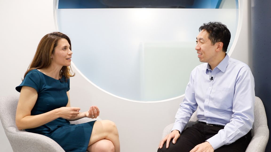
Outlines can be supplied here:
<path id="1" fill-rule="evenodd" d="M 86 112 L 70 107 L 69 78 L 75 75 L 70 70 L 71 58 L 67 35 L 53 32 L 41 39 L 22 83 L 16 87 L 21 92 L 16 112 L 18 129 L 50 137 L 65 151 L 119 152 L 118 130 L 112 121 L 69 123 L 99 116 L 97 106 Z"/>

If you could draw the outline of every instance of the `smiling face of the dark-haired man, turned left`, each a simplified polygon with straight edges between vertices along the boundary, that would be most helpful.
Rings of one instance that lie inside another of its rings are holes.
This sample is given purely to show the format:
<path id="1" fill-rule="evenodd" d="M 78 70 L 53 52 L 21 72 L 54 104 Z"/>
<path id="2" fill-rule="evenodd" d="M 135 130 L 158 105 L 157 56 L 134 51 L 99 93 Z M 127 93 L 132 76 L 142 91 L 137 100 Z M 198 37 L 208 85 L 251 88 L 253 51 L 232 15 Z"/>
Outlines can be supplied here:
<path id="1" fill-rule="evenodd" d="M 212 65 L 215 62 L 216 54 L 215 51 L 217 48 L 217 43 L 212 45 L 211 40 L 208 38 L 209 33 L 204 29 L 199 32 L 199 35 L 196 37 L 196 47 L 198 53 L 198 58 L 200 62 L 207 62 Z"/>

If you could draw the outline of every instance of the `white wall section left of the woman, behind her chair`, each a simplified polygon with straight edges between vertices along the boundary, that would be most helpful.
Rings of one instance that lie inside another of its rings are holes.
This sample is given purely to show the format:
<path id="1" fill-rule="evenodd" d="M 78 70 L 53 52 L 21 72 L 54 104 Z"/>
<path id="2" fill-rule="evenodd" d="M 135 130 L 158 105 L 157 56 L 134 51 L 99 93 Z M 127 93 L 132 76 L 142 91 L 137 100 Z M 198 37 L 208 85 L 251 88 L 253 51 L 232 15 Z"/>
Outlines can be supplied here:
<path id="1" fill-rule="evenodd" d="M 53 1 L 0 1 L 0 96 L 18 94 L 15 87 L 27 70 L 38 42 L 55 31 Z M 0 124 L 0 151 L 12 151 Z"/>

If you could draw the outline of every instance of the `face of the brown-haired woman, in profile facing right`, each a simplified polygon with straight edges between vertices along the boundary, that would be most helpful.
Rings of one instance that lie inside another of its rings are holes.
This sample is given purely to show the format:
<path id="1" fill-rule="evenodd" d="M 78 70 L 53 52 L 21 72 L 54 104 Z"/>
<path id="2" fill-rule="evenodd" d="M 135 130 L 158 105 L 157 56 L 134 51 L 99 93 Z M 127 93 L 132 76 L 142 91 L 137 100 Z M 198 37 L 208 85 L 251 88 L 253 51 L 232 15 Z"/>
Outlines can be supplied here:
<path id="1" fill-rule="evenodd" d="M 54 48 L 54 53 L 51 55 L 52 64 L 56 66 L 70 66 L 72 61 L 72 51 L 70 50 L 70 44 L 67 39 L 60 39 L 57 42 L 57 46 Z"/>

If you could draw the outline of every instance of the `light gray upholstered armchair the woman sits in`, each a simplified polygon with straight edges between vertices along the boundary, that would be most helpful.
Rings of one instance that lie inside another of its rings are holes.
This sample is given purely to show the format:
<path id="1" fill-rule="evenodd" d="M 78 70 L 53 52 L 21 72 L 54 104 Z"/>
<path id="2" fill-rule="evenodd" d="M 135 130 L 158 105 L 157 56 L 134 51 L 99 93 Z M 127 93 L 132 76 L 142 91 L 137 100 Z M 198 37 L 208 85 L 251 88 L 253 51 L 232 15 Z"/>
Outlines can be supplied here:
<path id="1" fill-rule="evenodd" d="M 11 95 L 0 99 L 0 119 L 9 143 L 14 152 L 65 152 L 54 140 L 49 137 L 18 130 L 15 124 L 15 114 L 19 95 Z M 85 123 L 96 119 L 82 118 L 71 121 L 71 124 Z"/>

